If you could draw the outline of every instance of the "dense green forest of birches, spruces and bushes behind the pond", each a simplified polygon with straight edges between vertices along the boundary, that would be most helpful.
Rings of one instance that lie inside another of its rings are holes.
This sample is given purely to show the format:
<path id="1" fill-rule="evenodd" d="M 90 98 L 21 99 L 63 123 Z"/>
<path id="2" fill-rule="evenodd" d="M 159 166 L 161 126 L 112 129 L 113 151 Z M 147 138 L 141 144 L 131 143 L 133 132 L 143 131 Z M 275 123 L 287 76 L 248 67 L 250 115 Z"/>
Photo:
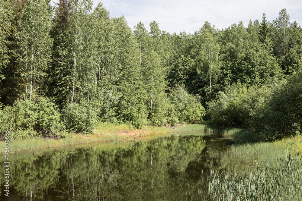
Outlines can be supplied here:
<path id="1" fill-rule="evenodd" d="M 259 139 L 302 133 L 302 28 L 286 9 L 219 30 L 131 29 L 91 0 L 0 0 L 0 140 L 97 122 L 211 121 Z"/>

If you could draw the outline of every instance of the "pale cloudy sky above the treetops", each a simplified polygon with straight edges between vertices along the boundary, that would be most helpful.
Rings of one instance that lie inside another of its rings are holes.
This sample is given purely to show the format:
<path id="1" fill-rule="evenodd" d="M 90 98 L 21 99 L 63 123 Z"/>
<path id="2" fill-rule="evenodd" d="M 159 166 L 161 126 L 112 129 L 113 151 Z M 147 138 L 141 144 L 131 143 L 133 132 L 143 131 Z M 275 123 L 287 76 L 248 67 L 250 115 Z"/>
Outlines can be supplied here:
<path id="1" fill-rule="evenodd" d="M 272 21 L 283 8 L 287 9 L 291 22 L 295 19 L 302 26 L 301 0 L 94 0 L 110 11 L 111 17 L 124 15 L 128 25 L 133 29 L 139 21 L 149 28 L 155 20 L 159 28 L 169 33 L 181 31 L 194 33 L 207 20 L 218 29 L 230 27 L 243 21 L 247 27 L 249 20 L 261 21 L 263 12 L 267 20 Z"/>

